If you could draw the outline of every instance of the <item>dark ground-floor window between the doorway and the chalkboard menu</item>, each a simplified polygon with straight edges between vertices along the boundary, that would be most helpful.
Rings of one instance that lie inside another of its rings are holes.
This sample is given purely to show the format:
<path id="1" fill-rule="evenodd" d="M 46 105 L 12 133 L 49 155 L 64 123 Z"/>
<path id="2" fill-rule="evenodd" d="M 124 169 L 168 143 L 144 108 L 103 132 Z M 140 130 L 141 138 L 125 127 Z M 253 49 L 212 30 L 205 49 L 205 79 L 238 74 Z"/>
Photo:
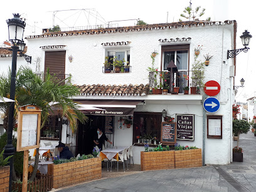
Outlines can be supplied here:
<path id="1" fill-rule="evenodd" d="M 134 112 L 133 142 L 137 143 L 137 137 L 157 137 L 160 141 L 162 113 Z"/>

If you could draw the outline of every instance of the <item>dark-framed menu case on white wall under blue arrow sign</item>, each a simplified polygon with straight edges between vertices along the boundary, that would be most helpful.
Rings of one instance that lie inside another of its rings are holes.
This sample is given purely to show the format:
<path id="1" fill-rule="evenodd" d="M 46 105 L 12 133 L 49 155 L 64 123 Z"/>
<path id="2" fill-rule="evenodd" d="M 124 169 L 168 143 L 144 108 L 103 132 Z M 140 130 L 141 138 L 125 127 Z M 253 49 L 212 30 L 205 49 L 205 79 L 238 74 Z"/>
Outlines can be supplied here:
<path id="1" fill-rule="evenodd" d="M 221 115 L 207 115 L 207 138 L 222 139 Z"/>

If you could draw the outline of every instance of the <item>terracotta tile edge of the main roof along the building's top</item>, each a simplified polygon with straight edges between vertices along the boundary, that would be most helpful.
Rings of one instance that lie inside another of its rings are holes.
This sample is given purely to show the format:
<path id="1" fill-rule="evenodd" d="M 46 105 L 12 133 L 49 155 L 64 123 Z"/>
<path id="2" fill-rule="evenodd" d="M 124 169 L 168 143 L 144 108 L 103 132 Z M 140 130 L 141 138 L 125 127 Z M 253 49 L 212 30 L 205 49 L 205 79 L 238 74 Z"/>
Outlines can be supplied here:
<path id="1" fill-rule="evenodd" d="M 137 26 L 124 26 L 118 28 L 104 28 L 104 29 L 85 29 L 85 30 L 76 30 L 76 31 L 56 31 L 56 32 L 46 32 L 43 35 L 32 35 L 27 36 L 26 38 L 47 38 L 54 36 L 71 36 L 71 35 L 94 35 L 94 34 L 104 34 L 104 33 L 122 33 L 129 31 L 148 31 L 152 29 L 171 29 L 171 28 L 184 28 L 188 26 L 189 28 L 192 26 L 213 26 L 216 25 L 224 25 L 224 24 L 232 24 L 235 23 L 235 20 L 232 21 L 180 21 L 174 23 L 159 23 L 159 24 L 142 24 Z"/>

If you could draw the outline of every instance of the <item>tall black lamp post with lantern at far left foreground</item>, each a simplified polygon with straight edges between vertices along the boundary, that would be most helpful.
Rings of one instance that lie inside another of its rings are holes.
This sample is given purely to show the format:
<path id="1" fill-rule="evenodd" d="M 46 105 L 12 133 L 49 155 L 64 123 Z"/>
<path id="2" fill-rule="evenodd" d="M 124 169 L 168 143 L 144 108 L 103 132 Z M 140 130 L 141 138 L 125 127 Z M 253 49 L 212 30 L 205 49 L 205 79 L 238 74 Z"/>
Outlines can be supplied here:
<path id="1" fill-rule="evenodd" d="M 8 24 L 9 41 L 13 43 L 11 47 L 13 50 L 12 65 L 11 65 L 11 88 L 10 88 L 10 99 L 15 99 L 15 83 L 16 83 L 16 64 L 17 64 L 17 52 L 19 50 L 19 44 L 23 41 L 23 33 L 26 23 L 19 18 L 19 14 L 13 14 L 13 19 L 6 20 Z M 24 48 L 24 46 L 23 46 Z M 13 147 L 13 121 L 14 121 L 14 102 L 11 102 L 9 106 L 9 119 L 8 119 L 8 134 L 7 144 L 4 146 L 4 156 L 12 156 L 15 152 Z M 9 160 L 10 166 L 10 179 L 9 179 L 9 191 L 11 191 L 12 184 L 12 173 L 13 173 L 13 157 Z"/>

